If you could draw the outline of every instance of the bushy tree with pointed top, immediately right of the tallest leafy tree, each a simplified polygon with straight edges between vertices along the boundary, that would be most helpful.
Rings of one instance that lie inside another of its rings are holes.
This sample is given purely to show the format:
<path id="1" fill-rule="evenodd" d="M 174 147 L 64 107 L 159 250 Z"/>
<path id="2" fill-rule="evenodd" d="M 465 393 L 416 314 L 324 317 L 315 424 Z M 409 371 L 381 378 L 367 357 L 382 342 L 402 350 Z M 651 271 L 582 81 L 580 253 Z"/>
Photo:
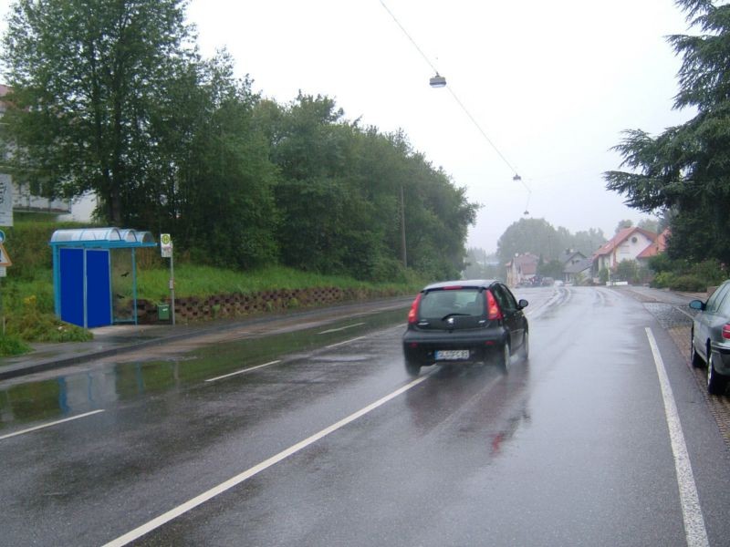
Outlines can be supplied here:
<path id="1" fill-rule="evenodd" d="M 233 59 L 221 53 L 201 66 L 190 139 L 169 157 L 176 207 L 168 222 L 198 262 L 249 269 L 276 263 L 276 166 L 255 122 L 258 96 L 248 78 L 236 79 Z M 166 154 L 167 156 L 167 154 Z"/>

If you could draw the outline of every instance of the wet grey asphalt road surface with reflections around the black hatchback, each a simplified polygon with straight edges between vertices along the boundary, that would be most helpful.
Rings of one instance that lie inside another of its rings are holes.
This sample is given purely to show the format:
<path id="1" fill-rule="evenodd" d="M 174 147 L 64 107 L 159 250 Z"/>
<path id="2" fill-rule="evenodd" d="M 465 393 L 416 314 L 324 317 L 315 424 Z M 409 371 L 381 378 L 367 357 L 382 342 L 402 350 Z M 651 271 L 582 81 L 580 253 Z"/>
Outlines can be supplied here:
<path id="1" fill-rule="evenodd" d="M 100 545 L 147 525 L 133 544 L 703 544 L 685 533 L 649 328 L 694 516 L 727 544 L 730 462 L 657 320 L 673 304 L 607 288 L 517 296 L 531 355 L 506 376 L 443 366 L 412 381 L 400 315 L 386 314 L 0 385 L 0 538 Z"/>

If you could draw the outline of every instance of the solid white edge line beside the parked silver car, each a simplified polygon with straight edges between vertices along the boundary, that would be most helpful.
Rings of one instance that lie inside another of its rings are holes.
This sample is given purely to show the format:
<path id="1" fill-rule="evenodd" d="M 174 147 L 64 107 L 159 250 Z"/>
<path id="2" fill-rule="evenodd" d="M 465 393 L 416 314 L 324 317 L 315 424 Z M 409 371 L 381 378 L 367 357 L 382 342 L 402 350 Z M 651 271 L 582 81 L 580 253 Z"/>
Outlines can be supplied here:
<path id="1" fill-rule="evenodd" d="M 672 441 L 674 469 L 677 473 L 679 499 L 682 504 L 684 535 L 687 538 L 689 547 L 709 547 L 710 542 L 707 539 L 707 530 L 704 527 L 704 517 L 700 507 L 700 498 L 697 495 L 697 485 L 694 483 L 692 463 L 687 452 L 687 444 L 684 441 L 682 424 L 674 401 L 672 386 L 669 383 L 662 355 L 659 353 L 659 347 L 651 328 L 646 327 L 646 335 L 649 338 L 649 345 L 652 346 L 654 364 L 656 365 L 657 375 L 659 375 L 659 384 L 662 387 L 664 413 L 669 427 L 669 438 Z"/>

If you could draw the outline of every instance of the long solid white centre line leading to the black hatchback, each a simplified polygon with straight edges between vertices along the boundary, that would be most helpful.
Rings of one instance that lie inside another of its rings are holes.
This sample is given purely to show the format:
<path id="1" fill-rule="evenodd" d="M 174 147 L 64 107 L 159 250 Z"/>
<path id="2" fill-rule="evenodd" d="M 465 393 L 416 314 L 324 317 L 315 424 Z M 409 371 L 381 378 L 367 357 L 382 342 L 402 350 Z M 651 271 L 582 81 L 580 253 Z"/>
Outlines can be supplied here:
<path id="1" fill-rule="evenodd" d="M 358 418 L 361 418 L 368 414 L 369 412 L 375 410 L 376 408 L 381 407 L 388 401 L 391 401 L 395 397 L 398 397 L 411 389 L 412 387 L 416 387 L 422 382 L 424 382 L 431 374 L 426 374 L 422 377 L 418 377 L 412 382 L 406 384 L 405 386 L 401 387 L 400 389 L 396 389 L 393 391 L 390 395 L 386 395 L 385 397 L 382 397 L 375 401 L 374 403 L 371 403 L 365 408 L 361 408 L 354 414 L 350 414 L 347 418 L 342 418 L 339 420 L 339 422 L 332 424 L 328 428 L 324 428 L 318 433 L 315 433 L 311 437 L 308 437 L 307 439 L 301 440 L 297 442 L 297 444 L 290 446 L 288 449 L 282 450 L 275 456 L 272 456 L 269 459 L 265 459 L 261 463 L 255 465 L 254 467 L 245 470 L 243 473 L 240 473 L 239 475 L 236 475 L 235 477 L 226 480 L 225 482 L 222 482 L 218 486 L 215 486 L 211 490 L 207 490 L 200 494 L 199 496 L 196 496 L 192 500 L 185 501 L 182 505 L 178 505 L 174 509 L 167 511 L 160 515 L 159 517 L 152 519 L 151 521 L 142 524 L 140 527 L 135 528 L 131 532 L 127 532 L 124 535 L 120 536 L 116 540 L 112 540 L 109 543 L 106 543 L 103 547 L 121 547 L 122 545 L 126 545 L 129 542 L 133 542 L 134 540 L 137 540 L 141 538 L 144 534 L 151 532 L 163 524 L 172 521 L 173 519 L 176 519 L 183 513 L 187 511 L 191 511 L 194 508 L 198 507 L 199 505 L 202 505 L 205 501 L 212 500 L 215 496 L 218 494 L 222 494 L 226 490 L 230 490 L 233 487 L 237 486 L 238 484 L 241 484 L 245 480 L 250 479 L 254 475 L 260 473 L 263 470 L 267 470 L 268 468 L 276 465 L 276 463 L 282 461 L 283 459 L 287 459 L 289 456 L 292 456 L 296 454 L 299 450 L 306 449 L 309 445 L 317 442 L 319 439 L 323 439 L 327 437 L 330 433 L 334 433 L 339 428 L 344 428 L 349 423 L 355 421 Z"/>

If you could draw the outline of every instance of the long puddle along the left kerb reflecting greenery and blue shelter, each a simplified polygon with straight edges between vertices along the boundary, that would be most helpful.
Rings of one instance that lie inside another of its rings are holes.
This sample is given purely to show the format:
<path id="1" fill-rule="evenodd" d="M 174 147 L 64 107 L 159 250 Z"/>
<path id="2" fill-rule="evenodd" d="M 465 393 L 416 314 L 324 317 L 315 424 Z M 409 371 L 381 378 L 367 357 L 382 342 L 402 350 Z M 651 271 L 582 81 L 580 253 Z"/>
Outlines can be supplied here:
<path id="1" fill-rule="evenodd" d="M 185 351 L 183 346 L 177 355 L 170 353 L 163 358 L 111 363 L 67 376 L 12 385 L 0 389 L 0 431 L 18 422 L 61 418 L 101 408 L 110 401 L 198 385 L 205 379 L 262 365 L 283 356 L 337 344 L 389 326 L 404 325 L 407 312 L 408 308 L 403 307 L 358 315 L 335 324 L 257 335 L 199 346 L 190 351 Z M 333 330 L 339 327 L 348 328 Z"/>

